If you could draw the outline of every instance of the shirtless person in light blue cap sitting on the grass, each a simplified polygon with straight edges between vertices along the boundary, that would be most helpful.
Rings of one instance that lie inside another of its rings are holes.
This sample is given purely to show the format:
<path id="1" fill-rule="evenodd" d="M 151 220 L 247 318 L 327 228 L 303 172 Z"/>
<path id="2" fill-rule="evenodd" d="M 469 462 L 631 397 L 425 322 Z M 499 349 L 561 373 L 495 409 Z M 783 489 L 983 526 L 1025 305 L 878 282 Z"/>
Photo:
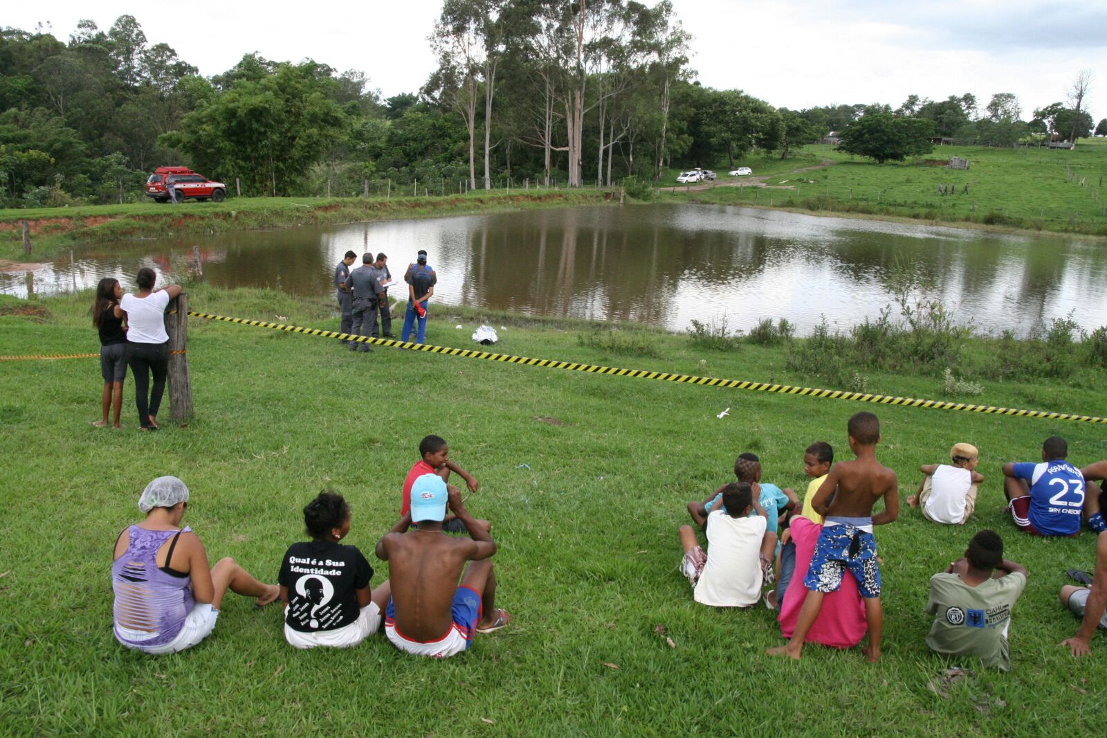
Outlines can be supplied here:
<path id="1" fill-rule="evenodd" d="M 443 533 L 447 499 L 470 537 Z M 413 522 L 416 527 L 408 533 Z M 474 632 L 507 625 L 510 613 L 494 606 L 496 577 L 489 558 L 495 553 L 496 542 L 465 509 L 456 486 L 437 474 L 416 479 L 411 511 L 376 543 L 376 556 L 389 562 L 392 582 L 384 614 L 389 640 L 408 654 L 444 658 L 466 650 Z M 466 562 L 472 562 L 468 567 Z"/>

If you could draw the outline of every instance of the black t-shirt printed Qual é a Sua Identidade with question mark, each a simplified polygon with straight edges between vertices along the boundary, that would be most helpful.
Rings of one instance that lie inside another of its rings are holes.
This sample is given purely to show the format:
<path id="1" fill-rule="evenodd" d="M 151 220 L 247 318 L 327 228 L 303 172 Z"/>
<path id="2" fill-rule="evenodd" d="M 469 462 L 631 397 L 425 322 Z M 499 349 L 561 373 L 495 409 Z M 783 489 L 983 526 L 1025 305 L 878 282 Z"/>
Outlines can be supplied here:
<path id="1" fill-rule="evenodd" d="M 333 631 L 358 619 L 356 591 L 369 586 L 373 568 L 356 546 L 330 541 L 293 543 L 277 582 L 288 587 L 284 622 L 293 631 Z"/>

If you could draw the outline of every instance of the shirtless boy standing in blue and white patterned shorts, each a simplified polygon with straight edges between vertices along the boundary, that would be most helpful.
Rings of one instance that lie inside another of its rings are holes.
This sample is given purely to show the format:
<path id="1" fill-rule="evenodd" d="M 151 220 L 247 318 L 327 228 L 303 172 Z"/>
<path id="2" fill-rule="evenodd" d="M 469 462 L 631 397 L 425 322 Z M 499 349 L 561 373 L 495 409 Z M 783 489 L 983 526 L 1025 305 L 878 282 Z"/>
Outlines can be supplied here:
<path id="1" fill-rule="evenodd" d="M 834 465 L 819 486 L 811 505 L 825 517 L 811 565 L 804 578 L 807 597 L 799 611 L 796 629 L 787 645 L 769 648 L 772 656 L 799 658 L 807 632 L 823 607 L 823 596 L 841 585 L 845 570 L 857 580 L 865 598 L 865 618 L 869 626 L 869 662 L 880 658 L 883 611 L 880 606 L 880 567 L 872 526 L 890 523 L 899 516 L 899 490 L 896 472 L 877 461 L 880 421 L 871 412 L 858 412 L 847 426 L 849 448 L 857 458 Z M 828 502 L 831 492 L 834 499 Z M 872 514 L 872 505 L 884 498 L 884 510 Z"/>

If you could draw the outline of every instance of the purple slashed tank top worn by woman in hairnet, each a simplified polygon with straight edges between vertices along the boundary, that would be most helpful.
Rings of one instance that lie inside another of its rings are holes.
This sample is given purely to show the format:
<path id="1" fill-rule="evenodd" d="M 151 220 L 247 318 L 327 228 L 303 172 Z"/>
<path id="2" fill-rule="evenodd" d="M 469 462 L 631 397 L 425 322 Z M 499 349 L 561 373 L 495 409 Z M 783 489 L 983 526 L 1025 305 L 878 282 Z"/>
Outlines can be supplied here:
<path id="1" fill-rule="evenodd" d="M 162 646 L 177 637 L 196 604 L 193 577 L 173 576 L 157 566 L 158 550 L 177 531 L 147 531 L 137 525 L 127 530 L 127 550 L 112 564 L 115 637 L 127 646 Z M 192 530 L 185 527 L 182 533 Z"/>

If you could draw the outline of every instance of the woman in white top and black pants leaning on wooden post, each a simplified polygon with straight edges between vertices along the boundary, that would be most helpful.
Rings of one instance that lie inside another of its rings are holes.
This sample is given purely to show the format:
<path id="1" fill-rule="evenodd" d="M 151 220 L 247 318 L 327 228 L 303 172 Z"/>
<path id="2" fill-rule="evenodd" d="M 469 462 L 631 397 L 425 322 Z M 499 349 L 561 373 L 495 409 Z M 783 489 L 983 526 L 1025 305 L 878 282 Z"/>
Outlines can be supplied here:
<path id="1" fill-rule="evenodd" d="M 149 267 L 138 269 L 136 295 L 126 294 L 120 308 L 127 318 L 127 365 L 135 378 L 138 430 L 157 430 L 157 409 L 165 392 L 169 370 L 169 335 L 165 332 L 165 308 L 180 294 L 179 285 L 154 289 L 157 275 Z M 149 376 L 154 375 L 154 387 Z M 148 392 L 148 394 L 147 394 Z"/>

